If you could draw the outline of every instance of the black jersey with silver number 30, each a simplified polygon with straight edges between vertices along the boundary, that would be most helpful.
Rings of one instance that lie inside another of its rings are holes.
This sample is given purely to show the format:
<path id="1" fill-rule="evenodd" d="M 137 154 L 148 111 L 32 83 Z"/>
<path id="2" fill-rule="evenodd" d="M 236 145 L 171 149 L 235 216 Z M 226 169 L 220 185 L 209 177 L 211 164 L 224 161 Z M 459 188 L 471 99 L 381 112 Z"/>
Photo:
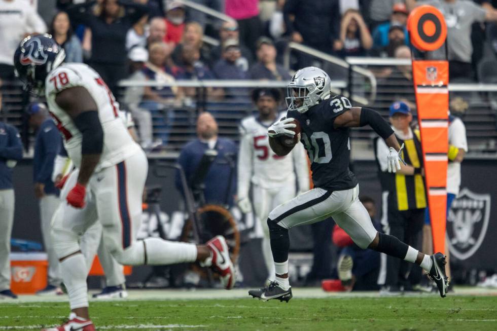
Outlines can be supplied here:
<path id="1" fill-rule="evenodd" d="M 350 128 L 334 128 L 337 116 L 348 111 L 350 101 L 341 95 L 322 100 L 303 114 L 288 111 L 287 118 L 300 122 L 304 144 L 311 162 L 314 187 L 340 191 L 357 185 L 356 176 L 349 170 Z"/>

